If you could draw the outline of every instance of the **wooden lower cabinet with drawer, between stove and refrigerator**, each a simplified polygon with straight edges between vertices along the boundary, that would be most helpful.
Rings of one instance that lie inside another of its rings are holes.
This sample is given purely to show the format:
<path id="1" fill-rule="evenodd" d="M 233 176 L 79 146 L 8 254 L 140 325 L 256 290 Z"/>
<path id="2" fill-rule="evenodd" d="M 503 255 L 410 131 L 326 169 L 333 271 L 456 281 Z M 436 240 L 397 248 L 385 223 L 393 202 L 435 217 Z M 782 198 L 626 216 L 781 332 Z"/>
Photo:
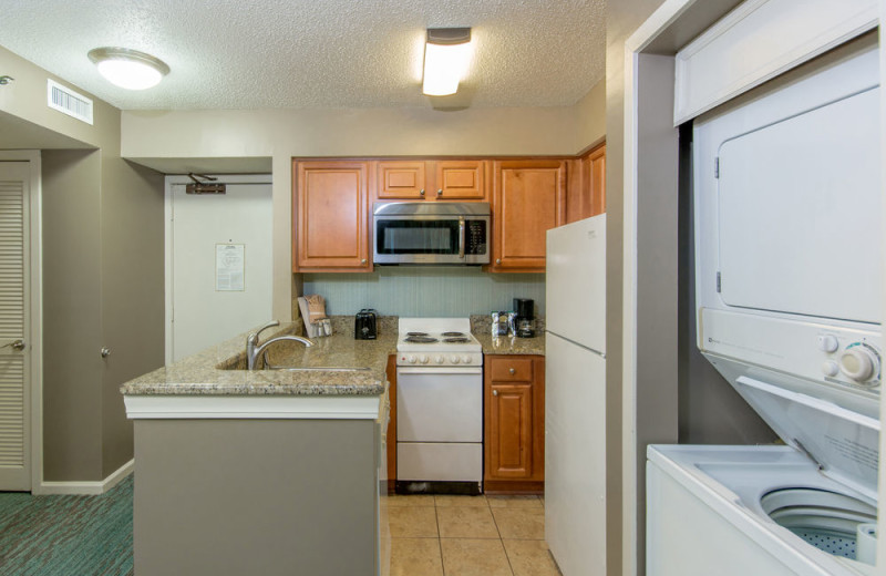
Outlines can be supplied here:
<path id="1" fill-rule="evenodd" d="M 542 493 L 545 359 L 487 354 L 484 362 L 484 490 Z"/>

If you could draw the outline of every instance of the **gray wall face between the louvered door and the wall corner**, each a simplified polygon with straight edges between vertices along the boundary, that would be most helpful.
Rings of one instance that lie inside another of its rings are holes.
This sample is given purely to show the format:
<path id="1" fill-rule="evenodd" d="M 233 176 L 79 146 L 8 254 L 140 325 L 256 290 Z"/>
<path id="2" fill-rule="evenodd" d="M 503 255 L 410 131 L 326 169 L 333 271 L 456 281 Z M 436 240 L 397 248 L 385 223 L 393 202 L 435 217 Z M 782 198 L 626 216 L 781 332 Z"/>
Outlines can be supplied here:
<path id="1" fill-rule="evenodd" d="M 43 477 L 102 479 L 99 151 L 44 151 Z"/>

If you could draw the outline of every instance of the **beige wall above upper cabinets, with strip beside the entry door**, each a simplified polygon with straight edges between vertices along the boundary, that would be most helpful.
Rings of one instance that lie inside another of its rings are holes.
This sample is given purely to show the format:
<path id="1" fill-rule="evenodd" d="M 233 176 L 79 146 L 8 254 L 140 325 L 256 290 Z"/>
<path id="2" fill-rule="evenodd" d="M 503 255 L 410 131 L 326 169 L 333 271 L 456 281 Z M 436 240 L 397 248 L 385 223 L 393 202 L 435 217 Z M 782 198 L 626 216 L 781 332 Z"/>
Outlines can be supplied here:
<path id="1" fill-rule="evenodd" d="M 605 135 L 605 86 L 574 106 L 533 109 L 347 109 L 126 111 L 121 154 L 162 171 L 199 158 L 253 158 L 274 177 L 272 315 L 292 315 L 291 160 L 310 156 L 571 155 Z M 239 167 L 243 167 L 240 165 Z"/>

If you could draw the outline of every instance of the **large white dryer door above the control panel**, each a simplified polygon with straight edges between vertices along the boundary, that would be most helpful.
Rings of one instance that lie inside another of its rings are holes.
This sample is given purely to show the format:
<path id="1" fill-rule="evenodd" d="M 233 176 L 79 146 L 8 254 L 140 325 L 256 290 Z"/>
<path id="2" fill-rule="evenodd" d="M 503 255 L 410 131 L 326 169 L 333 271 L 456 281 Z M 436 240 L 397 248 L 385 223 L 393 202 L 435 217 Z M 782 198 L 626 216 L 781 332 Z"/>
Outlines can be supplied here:
<path id="1" fill-rule="evenodd" d="M 879 322 L 878 92 L 722 143 L 718 216 L 727 305 Z"/>

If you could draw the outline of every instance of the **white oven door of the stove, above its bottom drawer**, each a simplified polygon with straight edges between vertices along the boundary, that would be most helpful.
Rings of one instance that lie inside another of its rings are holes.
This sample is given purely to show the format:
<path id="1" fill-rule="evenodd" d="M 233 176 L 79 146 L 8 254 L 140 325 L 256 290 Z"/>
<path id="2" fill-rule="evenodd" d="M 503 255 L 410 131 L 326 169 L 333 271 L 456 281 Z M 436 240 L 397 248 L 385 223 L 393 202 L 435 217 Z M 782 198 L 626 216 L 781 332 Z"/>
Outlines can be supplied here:
<path id="1" fill-rule="evenodd" d="M 396 369 L 398 442 L 483 442 L 483 369 Z"/>

